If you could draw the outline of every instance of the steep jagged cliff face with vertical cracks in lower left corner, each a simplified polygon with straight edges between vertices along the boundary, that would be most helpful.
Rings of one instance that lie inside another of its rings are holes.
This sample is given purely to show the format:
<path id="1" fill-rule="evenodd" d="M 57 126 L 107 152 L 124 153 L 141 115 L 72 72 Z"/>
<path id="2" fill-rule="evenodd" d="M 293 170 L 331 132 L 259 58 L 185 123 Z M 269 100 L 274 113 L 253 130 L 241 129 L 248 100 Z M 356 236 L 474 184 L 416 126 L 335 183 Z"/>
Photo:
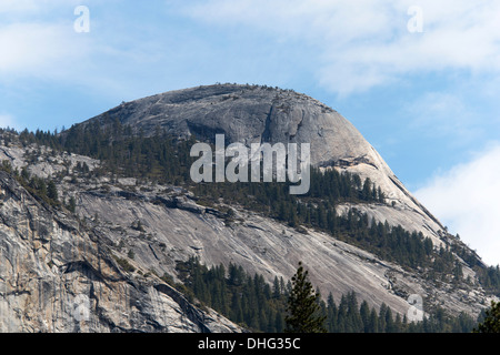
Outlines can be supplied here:
<path id="1" fill-rule="evenodd" d="M 0 172 L 0 332 L 238 332 Z M 133 263 L 133 262 L 132 262 Z M 143 271 L 142 275 L 138 273 Z"/>

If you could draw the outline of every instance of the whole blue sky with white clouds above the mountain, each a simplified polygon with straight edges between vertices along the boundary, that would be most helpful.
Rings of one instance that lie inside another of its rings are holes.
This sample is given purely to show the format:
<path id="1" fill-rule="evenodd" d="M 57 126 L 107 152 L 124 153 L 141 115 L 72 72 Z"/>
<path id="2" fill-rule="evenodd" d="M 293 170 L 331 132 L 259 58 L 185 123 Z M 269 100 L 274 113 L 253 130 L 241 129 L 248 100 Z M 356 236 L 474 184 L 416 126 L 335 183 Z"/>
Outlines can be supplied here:
<path id="1" fill-rule="evenodd" d="M 18 130 L 216 82 L 303 92 L 500 262 L 499 1 L 0 0 L 0 125 Z"/>

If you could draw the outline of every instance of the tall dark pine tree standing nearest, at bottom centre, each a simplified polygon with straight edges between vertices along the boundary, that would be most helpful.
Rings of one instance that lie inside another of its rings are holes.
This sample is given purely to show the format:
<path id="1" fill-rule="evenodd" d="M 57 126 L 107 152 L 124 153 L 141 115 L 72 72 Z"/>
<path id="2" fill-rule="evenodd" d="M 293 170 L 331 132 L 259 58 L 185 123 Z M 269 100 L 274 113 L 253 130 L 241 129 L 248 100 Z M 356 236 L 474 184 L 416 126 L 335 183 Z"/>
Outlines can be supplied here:
<path id="1" fill-rule="evenodd" d="M 299 262 L 297 273 L 292 277 L 284 331 L 288 333 L 324 333 L 326 316 L 318 315 L 319 297 L 308 280 L 308 271 L 304 271 L 302 263 Z"/>

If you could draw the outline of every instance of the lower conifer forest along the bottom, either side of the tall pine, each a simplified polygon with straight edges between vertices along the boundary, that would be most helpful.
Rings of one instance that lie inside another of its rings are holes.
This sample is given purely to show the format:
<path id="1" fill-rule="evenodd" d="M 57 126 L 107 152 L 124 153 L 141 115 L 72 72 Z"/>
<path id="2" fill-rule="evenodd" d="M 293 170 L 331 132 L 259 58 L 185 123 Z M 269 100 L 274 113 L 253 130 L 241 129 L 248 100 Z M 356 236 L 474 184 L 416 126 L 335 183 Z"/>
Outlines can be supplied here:
<path id="1" fill-rule="evenodd" d="M 163 275 L 163 280 L 190 301 L 198 300 L 251 331 L 283 332 L 290 281 L 274 277 L 270 285 L 262 275 L 249 275 L 241 266 L 207 267 L 194 257 L 179 262 L 177 271 L 182 284 L 174 284 L 169 275 Z M 407 315 L 401 316 L 386 304 L 376 310 L 366 301 L 359 303 L 352 292 L 342 295 L 338 303 L 331 294 L 324 300 L 320 301 L 318 315 L 326 316 L 324 328 L 329 333 L 468 333 L 478 324 L 464 313 L 450 317 L 440 308 L 421 322 L 409 322 Z"/>

